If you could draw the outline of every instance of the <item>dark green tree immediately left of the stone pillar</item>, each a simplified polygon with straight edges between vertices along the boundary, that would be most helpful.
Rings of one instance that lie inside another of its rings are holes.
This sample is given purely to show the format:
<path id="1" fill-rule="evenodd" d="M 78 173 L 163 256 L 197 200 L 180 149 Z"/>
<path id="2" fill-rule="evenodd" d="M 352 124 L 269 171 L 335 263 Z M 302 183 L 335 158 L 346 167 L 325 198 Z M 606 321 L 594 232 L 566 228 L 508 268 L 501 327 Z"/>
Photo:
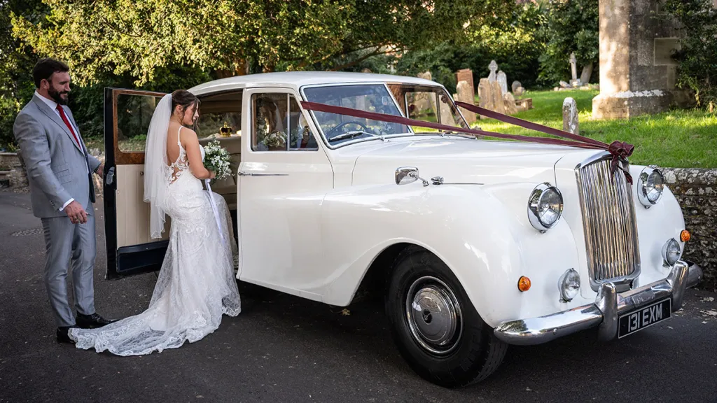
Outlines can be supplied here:
<path id="1" fill-rule="evenodd" d="M 599 7 L 598 0 L 549 0 L 548 22 L 545 25 L 548 42 L 540 58 L 538 80 L 544 85 L 556 85 L 571 78 L 570 54 L 575 52 L 578 68 L 593 69 L 596 80 L 599 66 Z M 578 77 L 580 77 L 578 70 Z"/>

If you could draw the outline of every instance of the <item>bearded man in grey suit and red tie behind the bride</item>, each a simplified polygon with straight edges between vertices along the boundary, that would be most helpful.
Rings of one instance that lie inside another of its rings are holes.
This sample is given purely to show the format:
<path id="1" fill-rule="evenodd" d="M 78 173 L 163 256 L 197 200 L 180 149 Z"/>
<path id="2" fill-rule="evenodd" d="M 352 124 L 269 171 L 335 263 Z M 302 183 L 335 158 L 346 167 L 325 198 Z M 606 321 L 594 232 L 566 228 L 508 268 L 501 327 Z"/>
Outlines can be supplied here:
<path id="1" fill-rule="evenodd" d="M 90 156 L 67 108 L 70 68 L 42 59 L 33 71 L 32 100 L 15 119 L 14 134 L 30 184 L 32 213 L 42 221 L 45 240 L 44 283 L 57 321 L 57 341 L 72 342 L 71 327 L 96 328 L 111 321 L 95 312 L 95 186 L 92 173 L 103 166 Z M 67 271 L 77 319 L 67 302 Z"/>

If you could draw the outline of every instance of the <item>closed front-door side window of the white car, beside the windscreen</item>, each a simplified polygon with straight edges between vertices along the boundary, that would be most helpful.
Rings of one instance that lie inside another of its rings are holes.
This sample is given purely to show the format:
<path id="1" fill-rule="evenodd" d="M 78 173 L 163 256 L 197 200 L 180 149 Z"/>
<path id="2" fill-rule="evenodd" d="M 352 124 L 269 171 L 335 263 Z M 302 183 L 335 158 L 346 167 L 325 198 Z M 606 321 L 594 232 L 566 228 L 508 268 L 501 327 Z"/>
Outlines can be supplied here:
<path id="1" fill-rule="evenodd" d="M 313 133 L 291 94 L 252 95 L 252 150 L 316 149 Z"/>

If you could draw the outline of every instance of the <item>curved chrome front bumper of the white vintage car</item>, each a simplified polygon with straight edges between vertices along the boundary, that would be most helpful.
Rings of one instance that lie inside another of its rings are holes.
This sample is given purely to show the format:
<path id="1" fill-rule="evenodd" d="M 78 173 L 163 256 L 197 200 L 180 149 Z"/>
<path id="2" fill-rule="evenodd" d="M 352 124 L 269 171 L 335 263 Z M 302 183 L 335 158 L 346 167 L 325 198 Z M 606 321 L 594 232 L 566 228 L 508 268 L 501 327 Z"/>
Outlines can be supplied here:
<path id="1" fill-rule="evenodd" d="M 682 260 L 675 263 L 665 280 L 618 294 L 612 283 L 604 283 L 595 303 L 538 318 L 505 321 L 495 329 L 495 336 L 508 344 L 528 346 L 547 343 L 571 333 L 598 326 L 601 340 L 617 336 L 617 318 L 622 313 L 640 308 L 663 298 L 672 299 L 672 310 L 682 308 L 685 289 L 702 280 L 702 269 Z"/>

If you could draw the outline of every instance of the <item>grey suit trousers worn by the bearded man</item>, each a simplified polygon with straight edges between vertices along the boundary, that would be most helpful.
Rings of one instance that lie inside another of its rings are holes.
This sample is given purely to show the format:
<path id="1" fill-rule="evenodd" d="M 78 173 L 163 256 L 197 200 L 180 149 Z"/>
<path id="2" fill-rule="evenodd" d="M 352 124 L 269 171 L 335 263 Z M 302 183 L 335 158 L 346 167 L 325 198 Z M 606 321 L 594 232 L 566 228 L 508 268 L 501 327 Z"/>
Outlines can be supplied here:
<path id="1" fill-rule="evenodd" d="M 95 288 L 92 281 L 97 255 L 95 214 L 87 207 L 87 222 L 72 224 L 70 218 L 42 219 L 45 240 L 44 283 L 57 326 L 75 325 L 75 315 L 67 301 L 67 272 L 72 261 L 72 285 L 75 309 L 82 315 L 95 313 Z"/>

